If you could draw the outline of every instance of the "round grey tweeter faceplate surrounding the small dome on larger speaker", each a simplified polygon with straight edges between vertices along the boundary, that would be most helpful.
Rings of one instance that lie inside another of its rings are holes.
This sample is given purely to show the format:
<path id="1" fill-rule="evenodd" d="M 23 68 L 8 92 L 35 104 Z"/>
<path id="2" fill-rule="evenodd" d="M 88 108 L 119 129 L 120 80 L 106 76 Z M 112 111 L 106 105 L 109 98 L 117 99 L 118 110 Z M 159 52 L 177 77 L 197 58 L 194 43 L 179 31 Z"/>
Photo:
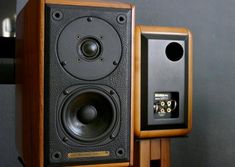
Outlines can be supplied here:
<path id="1" fill-rule="evenodd" d="M 92 40 L 98 52 L 84 56 L 84 41 Z M 98 80 L 112 73 L 122 57 L 122 44 L 117 31 L 106 21 L 96 17 L 78 18 L 60 33 L 57 55 L 62 67 L 82 80 Z"/>

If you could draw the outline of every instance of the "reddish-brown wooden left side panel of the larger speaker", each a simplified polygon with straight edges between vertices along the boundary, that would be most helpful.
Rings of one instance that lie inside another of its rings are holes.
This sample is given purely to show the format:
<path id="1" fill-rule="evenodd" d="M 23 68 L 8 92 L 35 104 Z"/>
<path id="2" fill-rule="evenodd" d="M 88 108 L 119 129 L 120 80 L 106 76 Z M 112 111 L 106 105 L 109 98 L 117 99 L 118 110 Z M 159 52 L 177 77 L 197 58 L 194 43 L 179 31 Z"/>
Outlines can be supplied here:
<path id="1" fill-rule="evenodd" d="M 43 166 L 44 3 L 30 0 L 17 17 L 16 82 L 22 101 L 17 136 L 25 166 Z M 18 97 L 19 97 L 18 96 Z M 16 100 L 18 101 L 18 100 Z"/>

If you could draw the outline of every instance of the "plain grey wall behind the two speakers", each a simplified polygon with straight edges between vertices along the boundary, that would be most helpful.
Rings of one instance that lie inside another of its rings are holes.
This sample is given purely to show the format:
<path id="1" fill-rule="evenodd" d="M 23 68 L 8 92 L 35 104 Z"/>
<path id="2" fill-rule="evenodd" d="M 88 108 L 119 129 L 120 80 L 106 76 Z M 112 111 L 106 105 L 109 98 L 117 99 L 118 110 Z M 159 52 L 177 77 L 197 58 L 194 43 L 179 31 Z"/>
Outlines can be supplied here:
<path id="1" fill-rule="evenodd" d="M 188 27 L 194 36 L 193 131 L 171 140 L 172 167 L 234 166 L 234 0 L 119 1 L 136 5 L 137 24 Z M 1 8 L 8 2 L 1 1 Z M 1 115 L 13 112 L 6 101 L 0 103 L 7 107 L 0 108 Z M 0 156 L 0 166 L 11 166 L 2 165 L 7 163 Z"/>

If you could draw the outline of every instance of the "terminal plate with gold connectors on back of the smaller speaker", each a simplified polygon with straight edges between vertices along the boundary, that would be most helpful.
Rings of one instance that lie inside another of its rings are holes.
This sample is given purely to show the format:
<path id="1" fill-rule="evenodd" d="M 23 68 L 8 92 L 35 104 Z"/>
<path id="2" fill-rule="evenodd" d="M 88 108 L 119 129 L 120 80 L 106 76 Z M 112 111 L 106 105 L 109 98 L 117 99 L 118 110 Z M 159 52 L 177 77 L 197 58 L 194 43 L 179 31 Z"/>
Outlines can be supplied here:
<path id="1" fill-rule="evenodd" d="M 153 102 L 154 119 L 179 117 L 179 93 L 155 92 Z"/>

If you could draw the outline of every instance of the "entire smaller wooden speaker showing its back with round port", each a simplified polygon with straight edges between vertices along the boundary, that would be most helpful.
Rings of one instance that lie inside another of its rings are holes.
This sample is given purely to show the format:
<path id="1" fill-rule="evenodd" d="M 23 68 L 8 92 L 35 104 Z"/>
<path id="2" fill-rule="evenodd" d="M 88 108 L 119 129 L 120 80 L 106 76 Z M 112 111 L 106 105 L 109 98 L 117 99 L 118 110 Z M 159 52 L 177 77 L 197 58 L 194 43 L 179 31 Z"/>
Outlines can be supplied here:
<path id="1" fill-rule="evenodd" d="M 186 135 L 192 128 L 192 35 L 136 26 L 135 136 Z"/>

